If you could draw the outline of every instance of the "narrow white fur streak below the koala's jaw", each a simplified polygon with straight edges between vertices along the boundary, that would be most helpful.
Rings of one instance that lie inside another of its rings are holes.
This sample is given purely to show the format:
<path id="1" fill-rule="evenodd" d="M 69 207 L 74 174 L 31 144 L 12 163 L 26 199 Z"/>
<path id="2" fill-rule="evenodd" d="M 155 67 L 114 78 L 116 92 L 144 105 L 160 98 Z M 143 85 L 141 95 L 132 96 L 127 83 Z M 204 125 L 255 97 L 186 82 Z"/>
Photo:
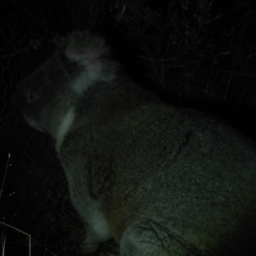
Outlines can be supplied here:
<path id="1" fill-rule="evenodd" d="M 61 143 L 65 137 L 65 134 L 70 130 L 71 125 L 73 124 L 75 118 L 75 109 L 72 107 L 68 109 L 66 115 L 63 117 L 63 120 L 60 124 L 60 127 L 56 134 L 56 150 L 60 150 Z"/>

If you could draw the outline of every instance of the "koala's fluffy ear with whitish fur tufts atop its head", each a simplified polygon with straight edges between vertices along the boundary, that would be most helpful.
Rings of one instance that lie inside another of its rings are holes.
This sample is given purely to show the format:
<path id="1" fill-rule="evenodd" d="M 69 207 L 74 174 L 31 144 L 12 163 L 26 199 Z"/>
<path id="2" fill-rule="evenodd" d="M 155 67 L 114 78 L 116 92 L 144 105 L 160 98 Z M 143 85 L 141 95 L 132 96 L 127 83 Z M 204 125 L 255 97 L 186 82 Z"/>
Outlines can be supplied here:
<path id="1" fill-rule="evenodd" d="M 88 31 L 71 33 L 65 40 L 65 55 L 79 67 L 79 81 L 74 84 L 77 93 L 99 81 L 110 83 L 116 77 L 118 65 L 100 36 Z"/>

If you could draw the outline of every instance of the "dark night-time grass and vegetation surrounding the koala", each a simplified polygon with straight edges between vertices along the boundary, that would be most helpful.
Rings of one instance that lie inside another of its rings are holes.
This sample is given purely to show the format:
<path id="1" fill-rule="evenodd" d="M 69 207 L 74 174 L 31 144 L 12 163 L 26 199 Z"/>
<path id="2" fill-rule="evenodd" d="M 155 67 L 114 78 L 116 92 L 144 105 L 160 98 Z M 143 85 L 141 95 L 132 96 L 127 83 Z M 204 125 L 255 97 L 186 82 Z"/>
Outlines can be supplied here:
<path id="1" fill-rule="evenodd" d="M 52 141 L 10 111 L 17 83 L 51 56 L 61 36 L 74 29 L 99 32 L 143 86 L 175 104 L 216 115 L 255 140 L 255 4 L 254 0 L 154 4 L 147 0 L 2 0 L 3 253 L 27 256 L 31 250 L 33 256 L 73 255 L 83 237 Z M 115 251 L 111 244 L 105 247 Z"/>

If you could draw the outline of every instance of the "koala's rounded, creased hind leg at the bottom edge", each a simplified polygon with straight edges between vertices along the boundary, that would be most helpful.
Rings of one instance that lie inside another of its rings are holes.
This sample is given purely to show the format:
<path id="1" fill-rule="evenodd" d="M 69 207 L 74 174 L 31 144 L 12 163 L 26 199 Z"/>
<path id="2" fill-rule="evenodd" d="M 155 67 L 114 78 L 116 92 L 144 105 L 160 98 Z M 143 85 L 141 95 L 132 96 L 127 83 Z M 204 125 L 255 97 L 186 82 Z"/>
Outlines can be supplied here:
<path id="1" fill-rule="evenodd" d="M 195 256 L 179 237 L 159 223 L 137 221 L 127 227 L 120 241 L 121 256 Z"/>

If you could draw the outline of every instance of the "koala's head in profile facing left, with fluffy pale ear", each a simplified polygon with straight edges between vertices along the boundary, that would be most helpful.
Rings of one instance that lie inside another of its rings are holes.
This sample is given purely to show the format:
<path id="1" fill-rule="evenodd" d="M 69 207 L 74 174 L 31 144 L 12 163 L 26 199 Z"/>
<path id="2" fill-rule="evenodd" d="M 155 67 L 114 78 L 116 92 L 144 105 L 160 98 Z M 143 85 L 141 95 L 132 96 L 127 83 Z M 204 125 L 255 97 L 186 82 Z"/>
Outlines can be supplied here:
<path id="1" fill-rule="evenodd" d="M 17 88 L 16 104 L 26 122 L 39 131 L 56 132 L 85 90 L 111 83 L 116 62 L 100 36 L 74 32 L 61 42 L 54 56 Z"/>

